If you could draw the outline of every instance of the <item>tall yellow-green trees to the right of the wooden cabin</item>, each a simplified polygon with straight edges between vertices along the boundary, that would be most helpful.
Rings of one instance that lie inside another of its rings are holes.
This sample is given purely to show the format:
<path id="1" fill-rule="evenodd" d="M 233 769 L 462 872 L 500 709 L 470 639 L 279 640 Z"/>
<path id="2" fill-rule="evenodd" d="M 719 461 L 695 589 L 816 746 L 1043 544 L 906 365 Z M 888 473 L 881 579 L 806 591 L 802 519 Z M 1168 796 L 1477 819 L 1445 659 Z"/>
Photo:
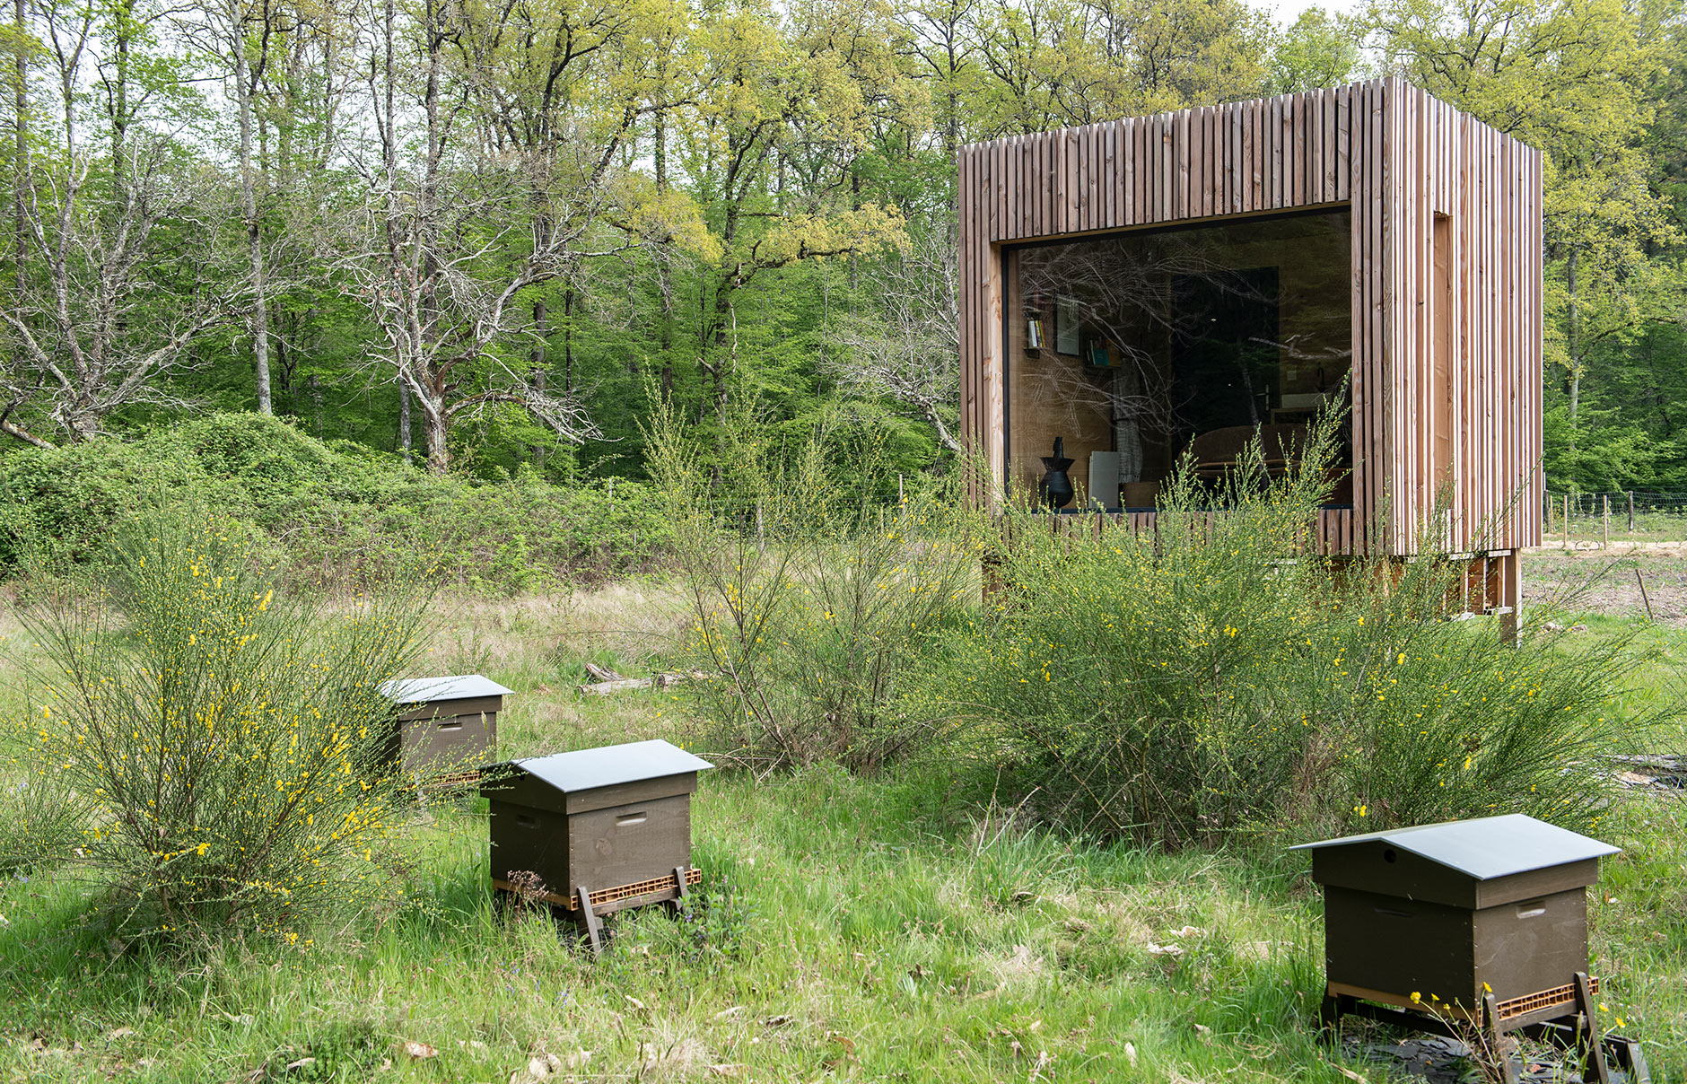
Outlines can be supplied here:
<path id="1" fill-rule="evenodd" d="M 1687 290 L 1668 184 L 1687 164 L 1680 8 L 1373 0 L 1361 22 L 1388 69 L 1545 157 L 1544 352 L 1562 391 L 1549 484 L 1680 486 L 1667 413 L 1682 369 L 1660 364 L 1679 354 L 1641 342 L 1680 324 Z"/>

